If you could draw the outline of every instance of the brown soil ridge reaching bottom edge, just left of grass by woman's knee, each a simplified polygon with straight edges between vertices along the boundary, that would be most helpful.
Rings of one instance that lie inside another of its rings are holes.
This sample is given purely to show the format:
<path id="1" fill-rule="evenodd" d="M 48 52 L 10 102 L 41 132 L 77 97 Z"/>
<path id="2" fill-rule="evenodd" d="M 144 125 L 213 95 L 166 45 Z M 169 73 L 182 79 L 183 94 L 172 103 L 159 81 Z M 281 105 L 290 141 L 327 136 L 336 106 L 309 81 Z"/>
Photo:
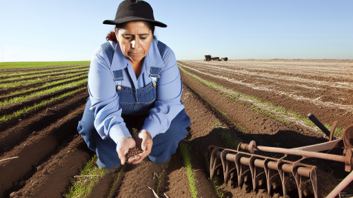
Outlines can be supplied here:
<path id="1" fill-rule="evenodd" d="M 81 149 L 84 146 L 85 142 L 81 135 L 76 135 L 68 146 L 38 166 L 37 173 L 26 181 L 26 186 L 12 192 L 12 195 L 61 198 L 70 186 L 70 181 L 79 174 L 79 170 L 90 157 L 83 151 L 84 149 Z"/>

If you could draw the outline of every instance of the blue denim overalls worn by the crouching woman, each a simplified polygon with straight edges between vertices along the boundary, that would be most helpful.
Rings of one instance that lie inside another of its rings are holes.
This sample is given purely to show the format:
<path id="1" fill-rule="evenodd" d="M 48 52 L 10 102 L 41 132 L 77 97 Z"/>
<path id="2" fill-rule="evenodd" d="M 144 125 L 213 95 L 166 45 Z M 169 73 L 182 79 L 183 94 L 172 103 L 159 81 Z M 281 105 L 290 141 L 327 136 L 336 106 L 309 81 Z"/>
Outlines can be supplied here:
<path id="1" fill-rule="evenodd" d="M 160 54 L 165 48 L 165 44 L 159 42 L 158 49 Z M 101 45 L 105 53 L 112 63 L 114 49 L 107 42 Z M 154 107 L 154 101 L 157 99 L 156 87 L 158 78 L 161 72 L 161 67 L 151 67 L 150 78 L 151 82 L 143 88 L 133 89 L 125 87 L 122 84 L 124 80 L 122 69 L 112 71 L 114 81 L 119 94 L 119 106 L 122 109 L 121 117 L 123 118 L 126 127 L 132 133 L 132 128 L 141 130 L 145 118 L 148 117 L 148 112 Z M 97 164 L 102 168 L 110 168 L 121 164 L 117 154 L 117 144 L 110 138 L 103 140 L 99 133 L 94 128 L 94 113 L 90 110 L 91 101 L 88 98 L 83 113 L 83 118 L 79 122 L 77 131 L 83 135 L 83 139 L 88 144 L 88 148 L 97 153 Z M 185 113 L 185 109 L 172 120 L 170 127 L 165 133 L 160 133 L 153 138 L 153 146 L 148 158 L 154 163 L 165 162 L 170 155 L 174 154 L 178 148 L 178 143 L 183 140 L 188 131 L 185 127 L 191 124 L 190 118 Z M 132 133 L 132 136 L 133 133 Z"/>

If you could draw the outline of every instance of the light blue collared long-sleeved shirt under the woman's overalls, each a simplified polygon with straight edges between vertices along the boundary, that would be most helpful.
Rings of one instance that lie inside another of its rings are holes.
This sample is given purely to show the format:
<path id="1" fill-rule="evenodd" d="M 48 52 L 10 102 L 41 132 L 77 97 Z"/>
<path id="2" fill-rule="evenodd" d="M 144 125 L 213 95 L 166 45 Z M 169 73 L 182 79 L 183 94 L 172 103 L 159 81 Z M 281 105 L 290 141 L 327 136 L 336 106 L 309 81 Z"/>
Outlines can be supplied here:
<path id="1" fill-rule="evenodd" d="M 150 132 L 152 138 L 159 133 L 165 133 L 169 129 L 170 122 L 184 109 L 184 104 L 180 100 L 182 85 L 177 59 L 168 46 L 161 57 L 157 42 L 152 41 L 139 78 L 136 78 L 130 61 L 121 52 L 119 43 L 109 41 L 114 48 L 112 65 L 102 47 L 98 47 L 94 52 L 88 73 L 88 91 L 92 102 L 90 109 L 94 112 L 94 127 L 104 140 L 110 137 L 117 143 L 123 137 L 131 137 L 121 118 L 119 94 L 113 80 L 114 70 L 123 69 L 125 79 L 119 85 L 139 89 L 151 83 L 150 67 L 163 68 L 157 82 L 157 99 L 142 127 Z"/>

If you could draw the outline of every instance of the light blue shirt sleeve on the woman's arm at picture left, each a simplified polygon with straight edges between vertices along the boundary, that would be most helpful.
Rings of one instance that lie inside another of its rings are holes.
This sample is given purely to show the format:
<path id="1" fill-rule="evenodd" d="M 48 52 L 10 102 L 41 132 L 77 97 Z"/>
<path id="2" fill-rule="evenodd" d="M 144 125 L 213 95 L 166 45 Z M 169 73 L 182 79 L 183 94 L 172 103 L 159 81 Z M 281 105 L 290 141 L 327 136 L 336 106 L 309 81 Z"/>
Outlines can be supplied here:
<path id="1" fill-rule="evenodd" d="M 119 95 L 115 90 L 115 83 L 108 56 L 101 47 L 94 52 L 88 73 L 88 91 L 94 113 L 94 127 L 103 140 L 108 137 L 118 142 L 130 135 L 128 128 L 121 118 Z"/>

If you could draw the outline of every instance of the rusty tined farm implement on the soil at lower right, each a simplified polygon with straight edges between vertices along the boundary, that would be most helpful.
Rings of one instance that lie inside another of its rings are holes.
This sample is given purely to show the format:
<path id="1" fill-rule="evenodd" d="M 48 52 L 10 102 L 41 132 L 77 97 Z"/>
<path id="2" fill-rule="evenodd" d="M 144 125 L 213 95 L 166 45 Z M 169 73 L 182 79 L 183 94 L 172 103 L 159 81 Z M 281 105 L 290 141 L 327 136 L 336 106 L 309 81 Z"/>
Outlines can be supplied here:
<path id="1" fill-rule="evenodd" d="M 323 131 L 329 138 L 328 142 L 321 144 L 312 144 L 298 148 L 278 148 L 269 146 L 258 146 L 252 140 L 249 144 L 240 143 L 237 150 L 222 148 L 219 146 L 209 146 L 211 151 L 210 158 L 210 179 L 214 175 L 223 174 L 224 182 L 227 183 L 232 175 L 237 180 L 238 186 L 244 183 L 245 176 L 252 180 L 252 188 L 256 190 L 259 188 L 259 181 L 265 180 L 267 184 L 268 194 L 270 195 L 272 184 L 276 181 L 281 182 L 283 189 L 283 196 L 288 195 L 289 179 L 294 178 L 296 187 L 298 189 L 299 197 L 302 197 L 302 181 L 305 177 L 310 179 L 314 197 L 318 197 L 317 193 L 317 179 L 316 166 L 303 164 L 301 161 L 307 158 L 327 159 L 336 162 L 345 163 L 345 171 L 351 172 L 341 183 L 330 192 L 327 197 L 336 197 L 350 182 L 353 180 L 353 124 L 348 126 L 343 138 L 334 137 L 334 130 L 336 129 L 337 121 L 332 124 L 331 131 L 329 131 L 312 113 L 308 115 L 310 120 Z M 334 155 L 327 153 L 319 153 L 327 151 L 332 148 L 343 147 L 343 155 Z M 266 157 L 263 155 L 256 155 L 255 151 L 265 153 L 281 153 L 283 157 Z M 288 155 L 296 155 L 301 159 L 292 162 L 285 157 Z M 248 167 L 248 168 L 247 168 Z M 236 179 L 237 177 L 237 179 Z M 304 177 L 304 178 L 303 178 Z M 308 179 L 307 179 L 308 180 Z M 294 184 L 295 185 L 295 184 Z"/>

